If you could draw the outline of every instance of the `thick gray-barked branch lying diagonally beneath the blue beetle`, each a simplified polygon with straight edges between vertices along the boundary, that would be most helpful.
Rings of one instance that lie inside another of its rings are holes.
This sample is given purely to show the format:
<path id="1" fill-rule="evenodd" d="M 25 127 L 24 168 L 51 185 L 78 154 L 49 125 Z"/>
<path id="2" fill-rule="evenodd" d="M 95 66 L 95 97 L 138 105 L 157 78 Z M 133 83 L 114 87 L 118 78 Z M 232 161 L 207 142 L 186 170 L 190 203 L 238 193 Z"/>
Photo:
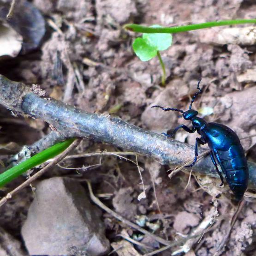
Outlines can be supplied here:
<path id="1" fill-rule="evenodd" d="M 16 86 L 14 90 L 6 86 Z M 0 76 L 0 104 L 53 125 L 64 137 L 87 137 L 178 165 L 194 158 L 194 146 L 146 131 L 109 114 L 87 113 L 51 98 L 41 98 L 22 83 Z M 202 154 L 207 149 L 200 149 Z M 248 162 L 250 186 L 256 189 L 256 163 Z M 194 173 L 219 177 L 209 156 L 198 161 Z"/>

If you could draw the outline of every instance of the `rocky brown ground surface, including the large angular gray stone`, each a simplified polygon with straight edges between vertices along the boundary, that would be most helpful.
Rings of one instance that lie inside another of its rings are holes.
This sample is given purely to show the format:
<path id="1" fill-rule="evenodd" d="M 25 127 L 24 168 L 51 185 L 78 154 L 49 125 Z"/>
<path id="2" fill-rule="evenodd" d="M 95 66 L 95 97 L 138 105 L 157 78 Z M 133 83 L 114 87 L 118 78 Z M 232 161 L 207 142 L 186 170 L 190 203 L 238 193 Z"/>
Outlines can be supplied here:
<path id="1" fill-rule="evenodd" d="M 161 53 L 167 69 L 166 86 L 161 85 L 158 59 L 142 62 L 134 54 L 132 42 L 140 35 L 122 29 L 126 23 L 173 26 L 255 18 L 255 1 L 23 0 L 19 4 L 30 12 L 21 15 L 24 20 L 19 23 L 38 32 L 12 31 L 12 44 L 8 42 L 5 48 L 1 48 L 4 40 L 0 33 L 0 48 L 6 51 L 0 52 L 0 74 L 39 84 L 47 95 L 85 111 L 110 113 L 158 133 L 186 121 L 178 119 L 177 113 L 151 109 L 152 104 L 187 109 L 202 77 L 204 92 L 193 107 L 207 121 L 236 131 L 247 158 L 256 160 L 255 27 L 244 24 L 174 34 L 172 46 Z M 6 0 L 1 0 L 2 20 L 5 6 Z M 17 9 L 14 17 L 20 18 Z M 9 26 L 16 28 L 17 24 Z M 36 142 L 49 131 L 42 121 L 13 117 L 0 107 L 0 161 L 5 163 L 21 146 Z M 175 138 L 194 144 L 196 137 L 196 133 L 180 131 Z M 214 255 L 236 209 L 227 185 L 216 201 L 209 184 L 218 187 L 219 180 L 193 175 L 190 179 L 182 172 L 169 179 L 172 170 L 168 166 L 131 153 L 125 155 L 126 161 L 117 156 L 122 149 L 93 140 L 83 140 L 74 154 L 103 150 L 115 155 L 67 159 L 0 207 L 1 256 L 107 255 L 111 251 L 112 255 L 139 256 L 165 246 L 125 220 L 174 242 L 157 255 Z M 146 198 L 140 201 L 138 169 L 146 190 Z M 85 179 L 112 211 L 106 212 L 89 199 Z M 24 180 L 20 177 L 7 185 L 0 196 Z M 222 255 L 255 255 L 254 198 L 253 191 L 246 194 Z M 207 221 L 214 223 L 203 229 Z M 201 239 L 193 239 L 194 232 L 200 232 Z"/>

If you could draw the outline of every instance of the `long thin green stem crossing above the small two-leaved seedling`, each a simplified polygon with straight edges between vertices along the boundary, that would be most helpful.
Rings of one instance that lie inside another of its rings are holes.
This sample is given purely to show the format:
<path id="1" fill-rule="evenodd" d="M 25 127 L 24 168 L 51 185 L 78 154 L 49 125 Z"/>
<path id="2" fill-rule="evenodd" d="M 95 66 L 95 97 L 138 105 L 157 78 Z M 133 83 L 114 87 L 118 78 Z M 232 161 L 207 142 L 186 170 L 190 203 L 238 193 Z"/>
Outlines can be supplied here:
<path id="1" fill-rule="evenodd" d="M 256 19 L 233 19 L 233 20 L 220 20 L 220 21 L 210 21 L 200 24 L 191 24 L 185 26 L 178 26 L 178 27 L 166 27 L 166 28 L 152 28 L 141 26 L 137 24 L 126 24 L 124 29 L 131 30 L 133 32 L 140 32 L 140 33 L 179 33 L 185 32 L 190 30 L 200 30 L 206 29 L 210 27 L 218 27 L 218 26 L 226 26 L 226 25 L 235 25 L 235 24 L 246 24 L 246 23 L 256 23 Z"/>

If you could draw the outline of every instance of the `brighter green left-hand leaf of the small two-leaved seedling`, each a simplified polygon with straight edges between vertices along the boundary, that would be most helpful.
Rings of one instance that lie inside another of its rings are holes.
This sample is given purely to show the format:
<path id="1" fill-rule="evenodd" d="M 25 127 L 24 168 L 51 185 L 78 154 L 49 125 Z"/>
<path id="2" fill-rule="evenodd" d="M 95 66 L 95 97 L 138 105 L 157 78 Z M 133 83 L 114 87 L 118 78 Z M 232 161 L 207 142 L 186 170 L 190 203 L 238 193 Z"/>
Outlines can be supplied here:
<path id="1" fill-rule="evenodd" d="M 138 37 L 134 40 L 132 44 L 132 48 L 135 54 L 142 61 L 148 61 L 154 58 L 157 54 L 157 49 L 153 46 L 150 46 L 145 42 L 145 40 L 141 37 Z"/>

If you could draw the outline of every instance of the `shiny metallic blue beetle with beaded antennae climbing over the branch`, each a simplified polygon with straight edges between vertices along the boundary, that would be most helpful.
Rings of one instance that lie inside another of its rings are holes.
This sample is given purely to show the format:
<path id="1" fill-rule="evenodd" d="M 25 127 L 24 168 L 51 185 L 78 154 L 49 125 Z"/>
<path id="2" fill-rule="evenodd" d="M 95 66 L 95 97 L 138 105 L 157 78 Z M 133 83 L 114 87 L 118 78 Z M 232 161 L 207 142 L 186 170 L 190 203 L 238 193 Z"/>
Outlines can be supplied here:
<path id="1" fill-rule="evenodd" d="M 203 145 L 208 143 L 208 146 L 211 149 L 212 162 L 220 175 L 221 185 L 223 185 L 223 177 L 217 167 L 216 162 L 218 162 L 220 165 L 221 170 L 225 175 L 226 182 L 235 195 L 235 199 L 240 201 L 243 199 L 249 180 L 249 171 L 244 155 L 244 149 L 234 131 L 232 131 L 226 125 L 207 123 L 204 119 L 197 117 L 198 112 L 196 110 L 191 109 L 196 96 L 202 92 L 202 89 L 199 88 L 200 81 L 196 87 L 196 89 L 199 89 L 199 91 L 196 92 L 196 94 L 192 97 L 189 110 L 184 112 L 183 110 L 177 108 L 164 108 L 161 106 L 153 107 L 160 107 L 164 111 L 178 111 L 182 113 L 181 117 L 183 117 L 185 120 L 192 121 L 192 129 L 188 128 L 186 125 L 179 125 L 171 134 L 163 133 L 163 135 L 171 137 L 180 128 L 183 128 L 189 133 L 194 133 L 197 131 L 201 135 L 201 138 L 196 138 L 195 159 L 191 165 L 186 167 L 192 167 L 196 163 L 198 156 L 198 144 Z"/>

